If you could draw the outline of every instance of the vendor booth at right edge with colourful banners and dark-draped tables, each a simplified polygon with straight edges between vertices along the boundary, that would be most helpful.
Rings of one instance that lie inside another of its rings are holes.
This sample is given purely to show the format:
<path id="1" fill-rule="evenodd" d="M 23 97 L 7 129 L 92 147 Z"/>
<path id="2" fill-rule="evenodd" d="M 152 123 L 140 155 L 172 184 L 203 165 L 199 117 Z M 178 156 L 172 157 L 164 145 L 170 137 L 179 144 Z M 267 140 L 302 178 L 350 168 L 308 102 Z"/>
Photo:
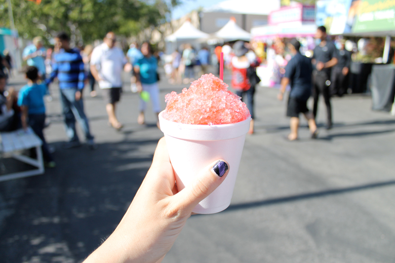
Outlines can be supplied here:
<path id="1" fill-rule="evenodd" d="M 391 63 L 394 56 L 390 56 L 390 50 L 391 38 L 395 37 L 395 2 L 319 0 L 316 10 L 317 26 L 324 25 L 329 34 L 357 43 L 350 68 L 350 90 L 371 91 L 373 110 L 390 111 L 394 103 L 395 68 L 383 64 Z"/>

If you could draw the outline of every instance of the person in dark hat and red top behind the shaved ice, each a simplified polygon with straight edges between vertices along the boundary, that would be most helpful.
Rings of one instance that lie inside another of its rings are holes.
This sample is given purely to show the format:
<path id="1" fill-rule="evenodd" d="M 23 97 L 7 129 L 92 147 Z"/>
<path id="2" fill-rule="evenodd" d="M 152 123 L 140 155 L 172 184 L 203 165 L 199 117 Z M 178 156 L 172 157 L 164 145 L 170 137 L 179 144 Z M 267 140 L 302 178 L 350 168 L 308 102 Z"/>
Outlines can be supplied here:
<path id="1" fill-rule="evenodd" d="M 257 61 L 249 61 L 245 54 L 248 52 L 248 48 L 245 47 L 244 41 L 236 41 L 233 45 L 233 52 L 235 56 L 231 60 L 232 68 L 232 88 L 236 90 L 237 96 L 243 100 L 244 95 L 247 96 L 247 108 L 251 114 L 250 128 L 248 134 L 254 133 L 254 94 L 255 85 L 258 83 L 255 80 L 255 76 L 249 73 L 253 68 L 257 67 L 259 63 Z M 250 79 L 251 77 L 251 79 Z"/>

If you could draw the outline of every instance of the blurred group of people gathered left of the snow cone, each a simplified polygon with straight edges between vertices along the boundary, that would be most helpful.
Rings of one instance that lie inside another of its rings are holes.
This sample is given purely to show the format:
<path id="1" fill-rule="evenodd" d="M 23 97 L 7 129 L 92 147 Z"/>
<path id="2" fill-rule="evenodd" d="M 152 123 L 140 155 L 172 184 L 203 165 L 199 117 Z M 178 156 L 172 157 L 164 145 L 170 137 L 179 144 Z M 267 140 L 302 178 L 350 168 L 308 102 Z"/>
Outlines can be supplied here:
<path id="1" fill-rule="evenodd" d="M 84 111 L 82 91 L 85 83 L 90 85 L 90 95 L 95 97 L 95 83 L 97 82 L 108 114 L 108 124 L 116 130 L 123 125 L 116 115 L 116 106 L 122 94 L 122 71 L 132 72 L 132 84 L 137 92 L 147 92 L 152 101 L 157 117 L 160 109 L 158 89 L 158 60 L 153 55 L 150 43 L 144 42 L 141 51 L 136 45 L 124 55 L 116 46 L 117 38 L 109 32 L 103 43 L 94 47 L 72 48 L 70 37 L 66 33 L 59 33 L 54 38 L 54 47 L 45 50 L 42 38 L 36 37 L 22 54 L 27 63 L 25 75 L 28 84 L 16 92 L 14 88 L 6 88 L 8 75 L 5 70 L 0 71 L 0 131 L 13 131 L 23 128 L 28 131 L 30 126 L 43 142 L 42 152 L 46 167 L 54 167 L 51 156 L 53 149 L 46 144 L 43 129 L 45 127 L 44 96 L 49 95 L 49 85 L 57 79 L 62 113 L 68 142 L 65 149 L 81 146 L 76 131 L 76 122 L 81 127 L 86 144 L 91 150 L 97 145 L 90 131 L 89 121 Z M 135 49 L 133 51 L 133 49 Z M 49 62 L 48 62 L 49 60 Z M 5 58 L 1 63 L 7 69 Z M 50 97 L 50 96 L 48 96 Z M 147 101 L 140 96 L 140 113 L 138 123 L 145 123 L 145 109 Z M 157 125 L 159 122 L 157 119 Z M 34 154 L 34 153 L 32 153 Z"/>

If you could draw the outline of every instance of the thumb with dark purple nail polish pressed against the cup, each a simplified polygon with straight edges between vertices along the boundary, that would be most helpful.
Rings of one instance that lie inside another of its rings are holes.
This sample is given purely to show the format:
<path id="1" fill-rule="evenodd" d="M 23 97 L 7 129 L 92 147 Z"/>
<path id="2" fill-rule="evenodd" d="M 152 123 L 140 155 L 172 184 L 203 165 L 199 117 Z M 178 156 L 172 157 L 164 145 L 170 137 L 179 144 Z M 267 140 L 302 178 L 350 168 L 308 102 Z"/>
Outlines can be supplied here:
<path id="1" fill-rule="evenodd" d="M 179 207 L 186 209 L 187 213 L 212 193 L 225 180 L 229 173 L 229 164 L 224 160 L 212 162 L 198 173 L 196 180 L 174 195 Z"/>

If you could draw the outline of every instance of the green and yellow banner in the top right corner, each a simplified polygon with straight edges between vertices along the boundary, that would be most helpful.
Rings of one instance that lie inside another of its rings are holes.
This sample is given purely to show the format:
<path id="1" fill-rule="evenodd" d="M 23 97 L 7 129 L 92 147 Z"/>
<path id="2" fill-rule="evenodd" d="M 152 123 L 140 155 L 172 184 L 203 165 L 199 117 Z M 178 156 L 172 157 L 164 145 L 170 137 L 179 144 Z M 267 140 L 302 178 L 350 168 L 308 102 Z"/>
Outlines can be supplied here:
<path id="1" fill-rule="evenodd" d="M 395 30 L 395 0 L 359 0 L 353 33 Z"/>

